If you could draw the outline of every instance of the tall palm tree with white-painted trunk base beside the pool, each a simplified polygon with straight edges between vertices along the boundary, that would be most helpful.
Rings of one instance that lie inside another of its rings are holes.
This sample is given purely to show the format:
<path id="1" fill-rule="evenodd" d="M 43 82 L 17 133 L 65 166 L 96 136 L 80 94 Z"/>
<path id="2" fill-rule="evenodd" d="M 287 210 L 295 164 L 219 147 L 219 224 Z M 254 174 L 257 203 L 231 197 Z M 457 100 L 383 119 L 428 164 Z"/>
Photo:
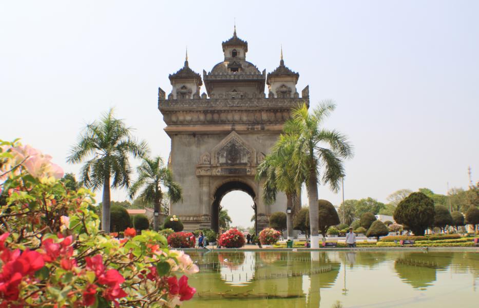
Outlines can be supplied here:
<path id="1" fill-rule="evenodd" d="M 286 121 L 283 128 L 283 142 L 294 147 L 290 163 L 295 169 L 295 179 L 304 179 L 308 189 L 311 248 L 319 247 L 318 183 L 330 184 L 331 189 L 337 191 L 344 176 L 343 159 L 353 156 L 353 147 L 346 136 L 321 127 L 335 108 L 333 102 L 323 101 L 309 113 L 303 104 L 293 110 L 292 119 Z"/>

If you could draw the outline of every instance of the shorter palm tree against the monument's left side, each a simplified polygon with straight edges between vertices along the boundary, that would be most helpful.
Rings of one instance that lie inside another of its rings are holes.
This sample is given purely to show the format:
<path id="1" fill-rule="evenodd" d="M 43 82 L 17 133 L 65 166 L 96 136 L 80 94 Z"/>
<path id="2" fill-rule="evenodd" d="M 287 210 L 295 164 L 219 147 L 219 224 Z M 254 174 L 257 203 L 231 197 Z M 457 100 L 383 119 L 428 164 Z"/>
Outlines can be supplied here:
<path id="1" fill-rule="evenodd" d="M 164 197 L 162 186 L 168 189 L 167 195 L 170 202 L 176 203 L 182 200 L 182 189 L 179 183 L 173 181 L 171 170 L 165 167 L 161 157 L 153 159 L 143 157 L 140 166 L 137 167 L 138 180 L 130 187 L 130 198 L 137 194 L 140 188 L 144 187 L 140 197 L 147 202 L 154 204 L 153 227 L 158 231 L 161 201 Z"/>

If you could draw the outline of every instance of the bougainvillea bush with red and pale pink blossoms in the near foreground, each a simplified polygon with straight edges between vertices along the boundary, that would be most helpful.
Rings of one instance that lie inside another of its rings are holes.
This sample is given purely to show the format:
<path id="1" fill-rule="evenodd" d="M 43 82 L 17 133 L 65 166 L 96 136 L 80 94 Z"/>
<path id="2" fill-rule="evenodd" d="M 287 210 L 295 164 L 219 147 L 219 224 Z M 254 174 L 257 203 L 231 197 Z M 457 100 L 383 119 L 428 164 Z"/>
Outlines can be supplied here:
<path id="1" fill-rule="evenodd" d="M 62 174 L 40 151 L 0 141 L 0 307 L 177 307 L 193 297 L 189 256 L 150 230 L 105 234 L 93 194 L 69 190 Z"/>

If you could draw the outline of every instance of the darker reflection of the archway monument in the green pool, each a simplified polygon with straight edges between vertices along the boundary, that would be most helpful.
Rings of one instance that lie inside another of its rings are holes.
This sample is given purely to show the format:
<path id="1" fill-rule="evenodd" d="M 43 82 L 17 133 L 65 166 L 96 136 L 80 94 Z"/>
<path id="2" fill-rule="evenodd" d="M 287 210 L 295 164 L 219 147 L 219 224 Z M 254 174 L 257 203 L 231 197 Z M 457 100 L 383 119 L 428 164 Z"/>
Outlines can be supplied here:
<path id="1" fill-rule="evenodd" d="M 200 264 L 202 278 L 193 275 L 190 284 L 199 298 L 238 300 L 244 306 L 248 300 L 257 304 L 264 299 L 278 308 L 318 307 L 320 288 L 335 283 L 340 267 L 325 253 L 313 261 L 316 257 L 310 252 L 218 252 L 193 258 Z"/>

